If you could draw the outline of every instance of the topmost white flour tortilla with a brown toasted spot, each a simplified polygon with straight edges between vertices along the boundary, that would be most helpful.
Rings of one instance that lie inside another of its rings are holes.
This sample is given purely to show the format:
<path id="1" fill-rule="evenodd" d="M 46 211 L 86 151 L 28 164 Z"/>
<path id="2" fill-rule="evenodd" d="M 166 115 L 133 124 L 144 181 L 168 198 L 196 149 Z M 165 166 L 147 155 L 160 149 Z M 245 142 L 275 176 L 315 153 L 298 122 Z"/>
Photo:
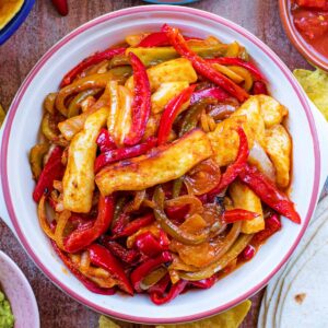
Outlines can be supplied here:
<path id="1" fill-rule="evenodd" d="M 296 274 L 285 294 L 281 324 L 288 328 L 328 327 L 328 244 Z M 295 295 L 304 295 L 303 302 L 296 302 Z"/>

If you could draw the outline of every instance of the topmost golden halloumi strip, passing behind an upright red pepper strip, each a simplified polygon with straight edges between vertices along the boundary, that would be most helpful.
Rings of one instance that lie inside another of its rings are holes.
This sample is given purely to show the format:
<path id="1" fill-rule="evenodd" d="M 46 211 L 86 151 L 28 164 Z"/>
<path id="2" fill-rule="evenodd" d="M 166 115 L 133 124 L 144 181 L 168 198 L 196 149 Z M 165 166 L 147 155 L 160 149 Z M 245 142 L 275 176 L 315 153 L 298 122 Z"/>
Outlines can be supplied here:
<path id="1" fill-rule="evenodd" d="M 152 92 L 166 82 L 186 81 L 194 83 L 197 81 L 197 74 L 192 65 L 185 58 L 173 59 L 153 66 L 147 70 L 147 74 Z M 126 86 L 133 91 L 133 77 L 128 79 Z"/>

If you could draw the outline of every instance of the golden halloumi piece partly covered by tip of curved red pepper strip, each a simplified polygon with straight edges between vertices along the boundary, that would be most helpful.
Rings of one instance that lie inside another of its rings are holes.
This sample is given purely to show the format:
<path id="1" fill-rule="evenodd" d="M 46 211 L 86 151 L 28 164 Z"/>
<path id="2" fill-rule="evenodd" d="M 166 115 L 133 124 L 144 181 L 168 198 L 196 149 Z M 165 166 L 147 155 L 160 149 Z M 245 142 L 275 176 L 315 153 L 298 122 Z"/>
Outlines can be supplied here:
<path id="1" fill-rule="evenodd" d="M 230 118 L 219 122 L 213 132 L 208 133 L 214 152 L 213 159 L 219 166 L 233 163 L 237 156 L 239 147 L 239 137 L 235 131 L 237 126 L 243 127 L 249 149 L 253 148 L 254 140 L 261 145 L 265 144 L 265 124 L 256 97 L 250 97 Z"/>

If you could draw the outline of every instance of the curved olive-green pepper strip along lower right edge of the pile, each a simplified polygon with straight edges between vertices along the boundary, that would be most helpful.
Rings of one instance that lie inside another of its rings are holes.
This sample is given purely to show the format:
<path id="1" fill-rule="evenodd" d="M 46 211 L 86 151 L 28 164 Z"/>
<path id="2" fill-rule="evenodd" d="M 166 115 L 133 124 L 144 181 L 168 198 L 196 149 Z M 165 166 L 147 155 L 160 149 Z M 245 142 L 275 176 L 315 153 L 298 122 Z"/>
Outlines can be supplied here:
<path id="1" fill-rule="evenodd" d="M 231 249 L 225 253 L 223 257 L 220 258 L 220 260 L 215 261 L 211 266 L 207 267 L 204 270 L 196 271 L 196 272 L 183 272 L 179 271 L 178 274 L 180 279 L 196 281 L 196 280 L 202 280 L 212 277 L 218 271 L 224 269 L 232 260 L 234 260 L 243 250 L 244 248 L 249 244 L 250 239 L 253 237 L 253 234 L 242 234 L 238 239 L 234 243 L 234 245 L 231 247 Z"/>

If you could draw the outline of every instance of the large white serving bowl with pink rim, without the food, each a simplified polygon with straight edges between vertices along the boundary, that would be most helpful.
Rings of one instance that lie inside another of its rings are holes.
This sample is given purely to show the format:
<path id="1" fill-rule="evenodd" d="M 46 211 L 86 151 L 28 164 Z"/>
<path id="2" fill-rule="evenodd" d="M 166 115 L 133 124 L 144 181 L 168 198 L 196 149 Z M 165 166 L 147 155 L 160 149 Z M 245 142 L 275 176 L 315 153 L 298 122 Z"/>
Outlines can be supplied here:
<path id="1" fill-rule="evenodd" d="M 163 23 L 199 37 L 214 35 L 223 42 L 237 40 L 266 74 L 273 96 L 290 109 L 289 128 L 294 142 L 291 198 L 302 224 L 283 219 L 283 230 L 270 238 L 251 261 L 213 288 L 188 292 L 169 304 L 155 306 L 144 295 L 93 294 L 62 270 L 63 263 L 54 254 L 37 222 L 27 154 L 37 142 L 45 95 L 57 90 L 68 70 L 126 35 L 157 31 Z M 225 311 L 268 283 L 291 256 L 308 224 L 318 198 L 319 179 L 320 150 L 308 103 L 291 72 L 265 44 L 241 26 L 208 12 L 168 5 L 137 7 L 105 14 L 67 35 L 44 55 L 22 84 L 3 128 L 1 181 L 7 207 L 1 210 L 1 216 L 10 218 L 9 223 L 39 269 L 79 302 L 122 320 L 181 323 Z"/>

